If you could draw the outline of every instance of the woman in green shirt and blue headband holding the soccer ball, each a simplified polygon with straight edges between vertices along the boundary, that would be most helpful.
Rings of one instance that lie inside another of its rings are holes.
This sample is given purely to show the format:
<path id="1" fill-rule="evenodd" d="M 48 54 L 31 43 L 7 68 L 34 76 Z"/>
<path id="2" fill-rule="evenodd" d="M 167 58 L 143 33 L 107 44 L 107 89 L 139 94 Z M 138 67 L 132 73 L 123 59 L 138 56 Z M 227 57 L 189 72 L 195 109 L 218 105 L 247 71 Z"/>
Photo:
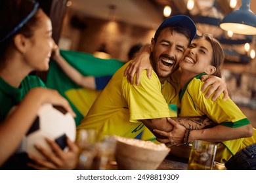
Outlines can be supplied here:
<path id="1" fill-rule="evenodd" d="M 37 150 L 46 160 L 28 154 L 22 156 L 14 154 L 22 137 L 33 123 L 40 105 L 58 104 L 72 114 L 74 112 L 68 101 L 60 97 L 56 91 L 47 90 L 38 76 L 29 75 L 32 71 L 49 69 L 49 60 L 55 45 L 50 18 L 36 1 L 4 0 L 1 3 L 0 142 L 1 150 L 4 152 L 0 153 L 0 167 L 1 169 L 74 169 L 78 147 L 69 139 L 68 152 L 64 152 L 52 140 L 47 142 L 53 152 L 37 146 Z M 8 116 L 13 109 L 14 111 Z M 8 138 L 10 135 L 12 138 Z"/>

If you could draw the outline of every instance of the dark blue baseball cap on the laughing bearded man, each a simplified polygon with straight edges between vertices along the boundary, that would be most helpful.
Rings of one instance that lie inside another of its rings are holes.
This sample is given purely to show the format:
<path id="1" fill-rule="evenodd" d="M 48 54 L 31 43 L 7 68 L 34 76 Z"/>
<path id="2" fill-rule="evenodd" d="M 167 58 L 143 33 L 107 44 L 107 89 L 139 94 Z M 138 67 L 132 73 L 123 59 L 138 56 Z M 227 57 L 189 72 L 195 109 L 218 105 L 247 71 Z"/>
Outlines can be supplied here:
<path id="1" fill-rule="evenodd" d="M 194 21 L 186 15 L 175 15 L 163 20 L 161 25 L 156 30 L 156 33 L 160 32 L 165 27 L 184 27 L 190 31 L 190 42 L 196 36 L 196 24 Z M 156 35 L 155 33 L 155 35 Z"/>

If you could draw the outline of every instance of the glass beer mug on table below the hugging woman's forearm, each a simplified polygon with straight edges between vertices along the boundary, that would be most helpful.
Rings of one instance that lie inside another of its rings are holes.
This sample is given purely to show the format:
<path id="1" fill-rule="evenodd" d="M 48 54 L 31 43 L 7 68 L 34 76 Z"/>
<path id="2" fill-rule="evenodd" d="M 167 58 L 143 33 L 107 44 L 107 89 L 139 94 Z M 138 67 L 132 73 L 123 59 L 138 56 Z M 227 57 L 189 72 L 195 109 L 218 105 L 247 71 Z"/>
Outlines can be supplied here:
<path id="1" fill-rule="evenodd" d="M 212 170 L 217 144 L 194 141 L 188 159 L 188 170 Z"/>

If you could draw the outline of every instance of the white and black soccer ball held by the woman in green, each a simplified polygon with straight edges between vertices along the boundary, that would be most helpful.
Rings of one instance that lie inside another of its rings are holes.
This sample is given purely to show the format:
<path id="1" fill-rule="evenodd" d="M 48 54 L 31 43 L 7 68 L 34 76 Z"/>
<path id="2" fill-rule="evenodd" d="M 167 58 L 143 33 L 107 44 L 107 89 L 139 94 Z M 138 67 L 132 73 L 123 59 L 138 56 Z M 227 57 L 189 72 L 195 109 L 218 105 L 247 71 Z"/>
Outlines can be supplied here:
<path id="1" fill-rule="evenodd" d="M 35 148 L 35 144 L 39 144 L 50 151 L 51 147 L 45 140 L 45 137 L 49 137 L 62 150 L 68 150 L 66 137 L 69 137 L 74 142 L 75 133 L 76 125 L 72 114 L 66 112 L 64 108 L 59 106 L 53 106 L 51 104 L 42 105 L 37 113 L 37 118 L 23 138 L 16 153 L 27 152 L 37 158 L 45 159 Z"/>

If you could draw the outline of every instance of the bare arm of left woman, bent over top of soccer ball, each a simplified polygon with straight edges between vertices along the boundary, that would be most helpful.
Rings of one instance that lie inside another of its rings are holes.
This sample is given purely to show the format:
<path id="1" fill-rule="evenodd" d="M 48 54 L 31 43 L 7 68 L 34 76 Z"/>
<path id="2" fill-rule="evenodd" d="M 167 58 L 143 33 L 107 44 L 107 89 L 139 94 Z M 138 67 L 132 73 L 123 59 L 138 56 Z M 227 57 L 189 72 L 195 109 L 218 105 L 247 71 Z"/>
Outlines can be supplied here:
<path id="1" fill-rule="evenodd" d="M 31 89 L 5 121 L 0 123 L 0 166 L 16 150 L 44 103 L 60 105 L 75 116 L 68 101 L 56 90 L 41 87 Z"/>

